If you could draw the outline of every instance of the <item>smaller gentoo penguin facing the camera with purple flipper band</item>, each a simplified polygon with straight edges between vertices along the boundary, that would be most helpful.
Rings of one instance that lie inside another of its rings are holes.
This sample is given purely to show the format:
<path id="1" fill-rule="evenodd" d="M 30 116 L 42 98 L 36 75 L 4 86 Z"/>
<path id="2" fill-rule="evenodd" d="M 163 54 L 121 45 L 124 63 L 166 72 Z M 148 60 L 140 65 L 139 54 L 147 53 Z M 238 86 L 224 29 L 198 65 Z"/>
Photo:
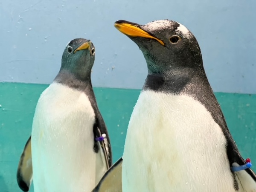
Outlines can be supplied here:
<path id="1" fill-rule="evenodd" d="M 20 157 L 17 182 L 23 191 L 33 175 L 35 192 L 90 192 L 111 166 L 108 131 L 90 78 L 94 59 L 90 40 L 73 39 L 64 49 L 58 75 L 38 100 Z"/>

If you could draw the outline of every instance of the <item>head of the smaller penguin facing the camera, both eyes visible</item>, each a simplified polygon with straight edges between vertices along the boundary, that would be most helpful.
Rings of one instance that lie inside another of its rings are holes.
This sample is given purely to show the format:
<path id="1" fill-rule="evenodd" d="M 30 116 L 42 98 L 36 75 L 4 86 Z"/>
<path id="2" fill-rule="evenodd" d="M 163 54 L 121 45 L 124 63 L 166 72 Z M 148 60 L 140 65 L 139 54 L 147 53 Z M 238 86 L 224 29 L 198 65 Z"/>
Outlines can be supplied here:
<path id="1" fill-rule="evenodd" d="M 90 40 L 76 38 L 64 49 L 61 70 L 67 70 L 78 79 L 90 79 L 95 60 L 95 47 Z"/>

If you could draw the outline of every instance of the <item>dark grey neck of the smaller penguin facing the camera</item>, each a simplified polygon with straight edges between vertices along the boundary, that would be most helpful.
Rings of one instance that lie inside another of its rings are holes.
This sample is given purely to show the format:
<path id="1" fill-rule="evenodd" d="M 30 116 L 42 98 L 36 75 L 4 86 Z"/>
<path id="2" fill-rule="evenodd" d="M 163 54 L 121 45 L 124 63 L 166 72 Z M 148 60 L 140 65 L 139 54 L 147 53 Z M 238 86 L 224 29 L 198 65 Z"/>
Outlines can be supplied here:
<path id="1" fill-rule="evenodd" d="M 68 70 L 61 69 L 58 75 L 55 77 L 54 82 L 64 84 L 70 88 L 90 92 L 93 94 L 93 86 L 91 83 L 90 75 L 86 78 L 78 78 L 73 73 L 70 73 Z"/>

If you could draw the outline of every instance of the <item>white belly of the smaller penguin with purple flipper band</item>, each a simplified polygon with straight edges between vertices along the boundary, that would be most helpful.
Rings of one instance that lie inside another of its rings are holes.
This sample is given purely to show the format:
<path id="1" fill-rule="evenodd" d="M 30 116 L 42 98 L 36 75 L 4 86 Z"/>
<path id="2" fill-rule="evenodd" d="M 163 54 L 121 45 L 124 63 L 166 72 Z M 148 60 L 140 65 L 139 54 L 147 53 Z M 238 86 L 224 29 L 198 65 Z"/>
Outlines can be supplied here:
<path id="1" fill-rule="evenodd" d="M 35 192 L 93 189 L 106 169 L 96 160 L 100 153 L 93 152 L 93 124 L 94 111 L 84 93 L 57 83 L 42 93 L 32 125 Z"/>

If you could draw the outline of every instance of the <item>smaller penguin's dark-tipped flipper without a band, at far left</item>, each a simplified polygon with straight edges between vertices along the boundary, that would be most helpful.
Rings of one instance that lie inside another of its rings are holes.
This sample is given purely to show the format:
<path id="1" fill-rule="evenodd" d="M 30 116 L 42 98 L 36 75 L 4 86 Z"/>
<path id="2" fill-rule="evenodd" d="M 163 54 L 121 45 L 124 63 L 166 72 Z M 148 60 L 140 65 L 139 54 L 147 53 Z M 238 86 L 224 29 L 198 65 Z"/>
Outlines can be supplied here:
<path id="1" fill-rule="evenodd" d="M 24 192 L 29 191 L 32 182 L 32 154 L 31 154 L 31 136 L 26 142 L 17 169 L 17 183 Z"/>

